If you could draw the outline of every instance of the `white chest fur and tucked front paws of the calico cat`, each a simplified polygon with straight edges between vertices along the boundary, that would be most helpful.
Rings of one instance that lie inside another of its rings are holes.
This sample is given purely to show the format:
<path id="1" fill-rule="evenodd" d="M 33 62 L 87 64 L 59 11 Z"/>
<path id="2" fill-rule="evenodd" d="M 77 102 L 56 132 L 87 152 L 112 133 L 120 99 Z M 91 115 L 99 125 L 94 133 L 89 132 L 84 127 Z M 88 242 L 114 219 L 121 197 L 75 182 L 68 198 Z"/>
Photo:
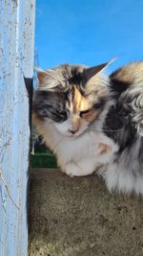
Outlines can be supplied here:
<path id="1" fill-rule="evenodd" d="M 90 175 L 97 167 L 112 161 L 113 153 L 118 150 L 112 139 L 99 131 L 86 131 L 79 137 L 69 138 L 47 125 L 44 138 L 67 175 Z"/>

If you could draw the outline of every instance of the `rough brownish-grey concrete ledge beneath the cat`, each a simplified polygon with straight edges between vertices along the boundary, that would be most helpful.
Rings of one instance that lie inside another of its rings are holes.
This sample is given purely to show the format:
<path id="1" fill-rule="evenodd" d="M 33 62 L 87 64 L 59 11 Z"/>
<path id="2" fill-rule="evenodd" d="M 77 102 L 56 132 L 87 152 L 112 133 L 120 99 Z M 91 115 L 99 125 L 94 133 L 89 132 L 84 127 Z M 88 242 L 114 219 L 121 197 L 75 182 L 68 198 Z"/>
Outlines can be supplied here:
<path id="1" fill-rule="evenodd" d="M 110 194 L 97 176 L 31 170 L 30 256 L 142 256 L 143 199 Z"/>

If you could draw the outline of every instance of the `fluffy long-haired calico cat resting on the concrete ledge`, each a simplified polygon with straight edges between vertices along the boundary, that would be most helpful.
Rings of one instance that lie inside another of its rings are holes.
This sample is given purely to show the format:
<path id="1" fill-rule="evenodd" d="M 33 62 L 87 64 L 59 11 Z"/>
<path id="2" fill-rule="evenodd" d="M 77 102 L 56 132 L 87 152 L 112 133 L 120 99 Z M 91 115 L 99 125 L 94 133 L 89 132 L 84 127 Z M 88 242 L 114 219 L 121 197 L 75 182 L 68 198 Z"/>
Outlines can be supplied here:
<path id="1" fill-rule="evenodd" d="M 143 194 L 143 62 L 38 71 L 33 123 L 67 175 L 102 175 L 110 191 Z"/>

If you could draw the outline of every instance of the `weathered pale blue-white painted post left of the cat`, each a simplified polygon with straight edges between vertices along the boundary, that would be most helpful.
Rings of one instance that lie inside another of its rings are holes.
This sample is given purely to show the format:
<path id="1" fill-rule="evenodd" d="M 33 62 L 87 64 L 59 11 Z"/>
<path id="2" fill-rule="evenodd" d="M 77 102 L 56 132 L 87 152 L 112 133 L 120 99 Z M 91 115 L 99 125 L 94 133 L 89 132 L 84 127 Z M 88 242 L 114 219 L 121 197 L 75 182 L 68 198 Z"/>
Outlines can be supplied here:
<path id="1" fill-rule="evenodd" d="M 28 254 L 34 12 L 34 0 L 0 0 L 0 256 Z"/>

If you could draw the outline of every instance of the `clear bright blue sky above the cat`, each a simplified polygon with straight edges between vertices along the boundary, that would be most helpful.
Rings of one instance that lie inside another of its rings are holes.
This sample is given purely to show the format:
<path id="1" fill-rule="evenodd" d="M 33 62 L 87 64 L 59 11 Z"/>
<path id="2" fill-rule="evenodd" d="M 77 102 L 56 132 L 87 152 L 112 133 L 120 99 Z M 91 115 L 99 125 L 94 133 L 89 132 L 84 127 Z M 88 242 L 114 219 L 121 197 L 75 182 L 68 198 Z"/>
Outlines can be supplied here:
<path id="1" fill-rule="evenodd" d="M 141 60 L 143 1 L 37 0 L 35 47 L 42 68 Z"/>

